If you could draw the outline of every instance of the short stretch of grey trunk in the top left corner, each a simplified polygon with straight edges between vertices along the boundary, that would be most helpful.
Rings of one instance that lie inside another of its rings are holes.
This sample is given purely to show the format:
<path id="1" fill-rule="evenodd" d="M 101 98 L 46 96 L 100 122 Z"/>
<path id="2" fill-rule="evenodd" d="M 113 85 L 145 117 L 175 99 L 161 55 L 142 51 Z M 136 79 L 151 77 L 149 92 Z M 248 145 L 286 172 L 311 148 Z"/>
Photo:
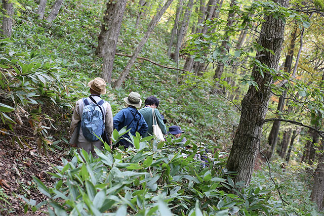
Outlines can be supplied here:
<path id="1" fill-rule="evenodd" d="M 14 20 L 12 15 L 14 14 L 13 3 L 7 0 L 2 0 L 2 7 L 4 12 L 4 18 L 2 21 L 2 32 L 7 37 L 11 37 L 12 26 L 14 25 Z"/>

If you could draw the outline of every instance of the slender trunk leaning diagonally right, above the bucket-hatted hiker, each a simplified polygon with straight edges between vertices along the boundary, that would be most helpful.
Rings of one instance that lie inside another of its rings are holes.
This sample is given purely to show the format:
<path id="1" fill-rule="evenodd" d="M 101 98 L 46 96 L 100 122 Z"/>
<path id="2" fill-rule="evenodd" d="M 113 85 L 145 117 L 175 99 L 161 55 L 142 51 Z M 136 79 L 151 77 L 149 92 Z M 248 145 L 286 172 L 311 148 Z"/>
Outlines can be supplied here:
<path id="1" fill-rule="evenodd" d="M 116 89 L 121 87 L 121 84 L 123 83 L 125 77 L 128 75 L 131 67 L 133 66 L 136 57 L 138 56 L 138 54 L 141 52 L 145 42 L 147 41 L 150 33 L 153 31 L 154 26 L 156 25 L 156 23 L 159 21 L 159 19 L 161 18 L 161 16 L 164 14 L 164 12 L 169 8 L 169 6 L 171 5 L 171 3 L 173 2 L 173 0 L 168 0 L 166 2 L 166 4 L 155 14 L 155 16 L 152 18 L 151 22 L 149 23 L 148 27 L 147 27 L 147 31 L 145 33 L 145 35 L 143 36 L 143 38 L 141 39 L 139 45 L 137 46 L 137 48 L 135 49 L 132 58 L 128 61 L 126 67 L 124 68 L 123 72 L 121 72 L 120 76 L 118 77 L 118 80 L 116 81 L 114 87 Z"/>

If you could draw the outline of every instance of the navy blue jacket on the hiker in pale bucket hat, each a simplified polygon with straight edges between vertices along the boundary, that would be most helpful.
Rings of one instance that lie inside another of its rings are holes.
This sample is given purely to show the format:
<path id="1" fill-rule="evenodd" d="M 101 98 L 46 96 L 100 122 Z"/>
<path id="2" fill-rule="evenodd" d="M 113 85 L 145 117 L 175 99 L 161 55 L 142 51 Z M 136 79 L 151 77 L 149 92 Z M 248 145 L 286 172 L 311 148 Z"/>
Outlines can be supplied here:
<path id="1" fill-rule="evenodd" d="M 132 120 L 133 122 L 131 123 Z M 134 107 L 122 109 L 113 117 L 113 128 L 117 131 L 120 131 L 121 128 L 127 126 L 129 123 L 131 124 L 127 127 L 127 129 L 131 128 L 130 132 L 133 136 L 136 136 L 136 132 L 138 132 L 141 136 L 147 132 L 148 126 L 143 118 L 143 115 Z M 128 133 L 123 137 L 129 138 Z"/>

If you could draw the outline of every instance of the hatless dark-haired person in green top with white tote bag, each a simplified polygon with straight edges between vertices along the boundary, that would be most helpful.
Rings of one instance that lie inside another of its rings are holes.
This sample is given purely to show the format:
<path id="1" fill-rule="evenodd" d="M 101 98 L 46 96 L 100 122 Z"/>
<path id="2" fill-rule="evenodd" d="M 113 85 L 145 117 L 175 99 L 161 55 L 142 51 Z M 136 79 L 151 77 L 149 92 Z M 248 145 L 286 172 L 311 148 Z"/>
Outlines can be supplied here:
<path id="1" fill-rule="evenodd" d="M 160 127 L 162 133 L 164 135 L 167 134 L 167 127 L 161 118 L 160 112 L 157 110 L 158 104 L 159 104 L 158 99 L 155 98 L 154 96 L 150 96 L 145 99 L 145 107 L 139 110 L 139 112 L 143 115 L 143 117 L 147 123 L 147 126 L 148 126 L 148 130 L 143 135 L 143 137 L 148 137 L 148 136 L 153 135 L 153 126 L 152 126 L 153 125 L 153 112 L 156 117 L 157 124 Z"/>

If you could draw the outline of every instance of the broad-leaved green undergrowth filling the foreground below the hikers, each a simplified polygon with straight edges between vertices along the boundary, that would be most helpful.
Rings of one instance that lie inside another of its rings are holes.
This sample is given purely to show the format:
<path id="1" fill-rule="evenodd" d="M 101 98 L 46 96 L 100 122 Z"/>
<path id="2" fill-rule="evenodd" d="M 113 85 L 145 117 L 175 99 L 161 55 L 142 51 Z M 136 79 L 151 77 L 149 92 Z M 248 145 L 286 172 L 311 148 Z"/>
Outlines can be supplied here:
<path id="1" fill-rule="evenodd" d="M 113 132 L 113 141 L 124 134 Z M 205 157 L 203 147 L 168 138 L 157 143 L 131 136 L 135 148 L 96 149 L 98 158 L 84 150 L 62 158 L 63 166 L 50 173 L 56 179 L 46 187 L 34 177 L 39 191 L 48 196 L 40 204 L 22 197 L 33 211 L 49 206 L 50 215 L 274 215 L 282 213 L 271 191 L 242 189 L 227 177 L 226 158 Z M 241 191 L 239 191 L 241 190 Z M 230 193 L 233 191 L 234 193 Z M 28 208 L 25 207 L 27 210 Z"/>

